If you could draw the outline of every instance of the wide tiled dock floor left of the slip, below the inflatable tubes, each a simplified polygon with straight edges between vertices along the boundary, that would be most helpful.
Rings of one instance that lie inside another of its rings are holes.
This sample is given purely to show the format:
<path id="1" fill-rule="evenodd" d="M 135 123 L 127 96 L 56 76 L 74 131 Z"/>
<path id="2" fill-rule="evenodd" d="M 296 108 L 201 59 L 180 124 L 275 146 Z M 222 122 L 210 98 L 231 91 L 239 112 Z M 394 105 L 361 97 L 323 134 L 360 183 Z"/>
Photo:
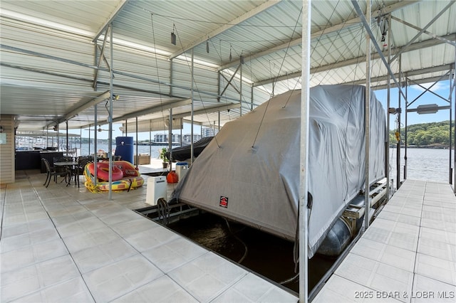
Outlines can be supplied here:
<path id="1" fill-rule="evenodd" d="M 1 302 L 298 300 L 132 211 L 147 206 L 146 186 L 109 201 L 82 185 L 45 188 L 38 171 L 16 173 L 0 188 Z"/>

